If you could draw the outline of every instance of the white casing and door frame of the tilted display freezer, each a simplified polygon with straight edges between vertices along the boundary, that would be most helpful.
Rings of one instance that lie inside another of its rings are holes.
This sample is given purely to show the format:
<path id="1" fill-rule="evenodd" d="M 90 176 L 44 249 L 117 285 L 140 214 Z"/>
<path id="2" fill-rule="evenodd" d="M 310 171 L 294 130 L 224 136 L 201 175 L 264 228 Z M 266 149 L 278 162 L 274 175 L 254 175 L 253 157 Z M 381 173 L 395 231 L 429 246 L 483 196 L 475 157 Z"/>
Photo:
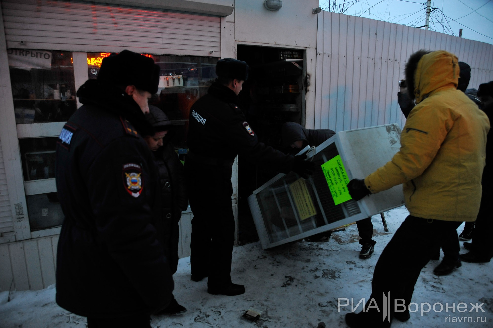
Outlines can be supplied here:
<path id="1" fill-rule="evenodd" d="M 366 137 L 365 137 L 366 136 Z M 375 140 L 377 138 L 377 140 Z M 343 161 L 343 164 L 346 168 L 346 173 L 349 179 L 353 178 L 364 178 L 368 174 L 372 173 L 378 167 L 384 165 L 392 156 L 398 151 L 400 148 L 399 143 L 400 138 L 400 128 L 396 124 L 383 125 L 377 127 L 369 127 L 348 131 L 341 131 L 331 138 L 327 139 L 325 142 L 320 144 L 316 148 L 309 148 L 308 146 L 300 151 L 297 155 L 307 154 L 308 159 L 313 159 L 315 155 L 324 151 L 325 148 L 331 144 L 335 143 L 335 146 L 338 150 L 339 155 Z M 387 145 L 387 141 L 389 141 L 390 145 Z M 371 144 L 373 147 L 369 148 L 368 144 Z M 378 156 L 375 156 L 376 151 L 378 151 Z M 357 156 L 356 156 L 357 155 Z M 322 155 L 324 156 L 324 155 Z M 358 161 L 359 159 L 359 161 Z M 324 162 L 327 160 L 324 158 Z M 363 160 L 363 162 L 361 161 Z M 364 165 L 363 165 L 364 164 Z M 282 221 L 284 223 L 284 228 L 288 237 L 283 238 L 282 240 L 277 240 L 271 242 L 271 238 L 269 237 L 269 232 L 266 229 L 265 222 L 262 217 L 262 213 L 260 210 L 259 203 L 257 201 L 256 195 L 260 192 L 264 191 L 266 188 L 270 188 L 270 186 L 279 181 L 286 174 L 280 173 L 267 183 L 265 183 L 260 188 L 256 189 L 251 196 L 248 197 L 248 204 L 250 206 L 250 210 L 253 216 L 253 220 L 255 223 L 255 227 L 257 229 L 257 233 L 260 239 L 260 244 L 262 249 L 272 248 L 275 246 L 279 246 L 291 241 L 299 240 L 305 237 L 309 237 L 316 233 L 325 232 L 328 230 L 332 230 L 337 227 L 344 226 L 346 224 L 352 223 L 354 221 L 359 221 L 365 219 L 367 217 L 371 217 L 372 215 L 385 212 L 389 209 L 401 206 L 404 203 L 404 196 L 402 194 L 402 186 L 394 186 L 391 189 L 381 192 L 376 195 L 370 195 L 370 197 L 364 197 L 361 200 L 355 202 L 354 200 L 349 200 L 344 202 L 346 206 L 343 206 L 342 209 L 347 216 L 344 219 L 337 220 L 335 222 L 328 223 L 322 227 L 318 227 L 315 229 L 311 229 L 308 231 L 303 231 L 300 226 L 300 220 L 297 217 L 297 211 L 293 208 L 293 213 L 295 219 L 298 223 L 299 230 L 302 231 L 296 235 L 290 235 L 287 226 L 285 225 L 285 221 L 283 218 Z M 306 179 L 307 182 L 313 183 L 312 177 Z M 285 184 L 287 188 L 287 184 Z M 313 188 L 315 190 L 315 186 Z M 293 206 L 292 199 L 290 197 L 290 193 L 288 192 L 288 197 L 290 198 L 291 206 Z M 319 204 L 321 215 L 324 221 L 327 223 L 327 219 L 325 217 L 325 213 L 323 212 L 320 199 L 318 198 L 318 194 L 314 201 L 317 201 Z M 276 195 L 274 197 L 277 202 Z M 348 205 L 351 206 L 351 202 L 357 204 L 359 207 L 360 213 L 349 215 L 345 209 Z M 278 208 L 279 208 L 278 203 Z M 312 222 L 314 222 L 314 216 L 312 216 Z"/>

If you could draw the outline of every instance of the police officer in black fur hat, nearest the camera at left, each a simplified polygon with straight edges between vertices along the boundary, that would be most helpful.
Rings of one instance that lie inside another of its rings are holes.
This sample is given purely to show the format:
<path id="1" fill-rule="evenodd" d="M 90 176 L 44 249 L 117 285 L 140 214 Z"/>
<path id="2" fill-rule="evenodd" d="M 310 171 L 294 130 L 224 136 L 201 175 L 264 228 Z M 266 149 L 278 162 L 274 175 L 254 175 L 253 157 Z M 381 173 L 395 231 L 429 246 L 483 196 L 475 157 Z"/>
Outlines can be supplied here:
<path id="1" fill-rule="evenodd" d="M 57 252 L 57 303 L 89 328 L 150 328 L 171 300 L 157 167 L 141 137 L 159 66 L 124 50 L 77 91 L 84 105 L 65 124 L 56 182 L 65 215 Z"/>

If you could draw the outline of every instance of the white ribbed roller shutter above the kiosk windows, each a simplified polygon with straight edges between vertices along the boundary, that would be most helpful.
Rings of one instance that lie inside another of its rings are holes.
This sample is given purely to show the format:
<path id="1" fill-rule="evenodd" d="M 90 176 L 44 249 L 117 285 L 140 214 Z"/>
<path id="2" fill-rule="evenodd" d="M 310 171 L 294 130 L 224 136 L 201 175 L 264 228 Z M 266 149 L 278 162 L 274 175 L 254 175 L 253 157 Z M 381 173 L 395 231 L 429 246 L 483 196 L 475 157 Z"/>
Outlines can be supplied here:
<path id="1" fill-rule="evenodd" d="M 219 17 L 72 1 L 2 0 L 1 5 L 8 48 L 221 54 Z"/>

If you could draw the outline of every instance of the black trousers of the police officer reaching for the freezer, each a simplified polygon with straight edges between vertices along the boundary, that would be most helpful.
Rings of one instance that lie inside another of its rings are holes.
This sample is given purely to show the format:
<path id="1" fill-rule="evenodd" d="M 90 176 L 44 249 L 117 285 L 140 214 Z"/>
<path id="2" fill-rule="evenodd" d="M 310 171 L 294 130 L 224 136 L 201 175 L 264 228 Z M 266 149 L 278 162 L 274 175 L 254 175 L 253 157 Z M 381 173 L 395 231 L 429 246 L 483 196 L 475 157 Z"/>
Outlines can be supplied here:
<path id="1" fill-rule="evenodd" d="M 231 203 L 231 167 L 187 159 L 185 175 L 193 213 L 190 266 L 193 275 L 209 276 L 208 286 L 231 283 L 235 219 Z"/>

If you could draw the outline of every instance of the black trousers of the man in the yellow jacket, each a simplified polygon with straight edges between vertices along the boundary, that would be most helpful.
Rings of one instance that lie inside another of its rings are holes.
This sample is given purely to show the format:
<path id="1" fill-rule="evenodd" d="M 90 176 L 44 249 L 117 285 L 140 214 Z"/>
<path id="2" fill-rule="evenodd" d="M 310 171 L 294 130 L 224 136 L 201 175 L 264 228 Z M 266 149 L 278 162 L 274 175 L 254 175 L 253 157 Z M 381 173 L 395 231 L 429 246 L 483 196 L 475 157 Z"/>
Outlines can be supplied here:
<path id="1" fill-rule="evenodd" d="M 442 221 L 417 218 L 409 215 L 395 231 L 392 239 L 382 251 L 372 280 L 372 294 L 367 307 L 373 303 L 380 309 L 368 309 L 363 315 L 367 317 L 369 327 L 389 327 L 394 315 L 396 298 L 405 300 L 405 305 L 411 303 L 414 286 L 420 276 L 421 269 L 428 263 L 434 250 L 443 244 L 445 238 L 456 235 L 456 229 L 462 222 Z M 409 252 L 409 247 L 412 251 Z M 390 293 L 390 294 L 389 294 Z M 389 300 L 388 318 L 382 323 L 384 295 Z M 425 301 L 425 300 L 416 300 Z M 402 301 L 398 302 L 399 304 Z"/>

